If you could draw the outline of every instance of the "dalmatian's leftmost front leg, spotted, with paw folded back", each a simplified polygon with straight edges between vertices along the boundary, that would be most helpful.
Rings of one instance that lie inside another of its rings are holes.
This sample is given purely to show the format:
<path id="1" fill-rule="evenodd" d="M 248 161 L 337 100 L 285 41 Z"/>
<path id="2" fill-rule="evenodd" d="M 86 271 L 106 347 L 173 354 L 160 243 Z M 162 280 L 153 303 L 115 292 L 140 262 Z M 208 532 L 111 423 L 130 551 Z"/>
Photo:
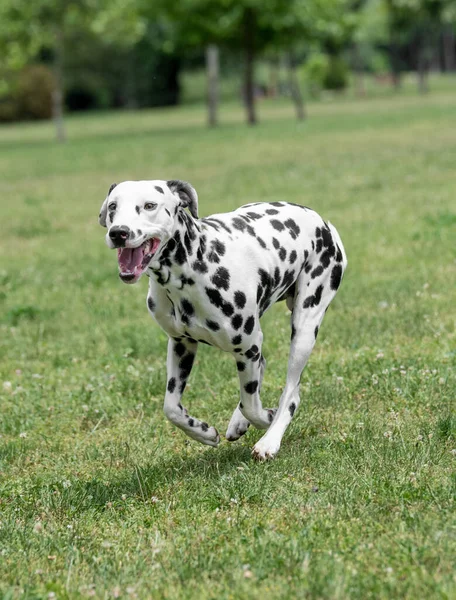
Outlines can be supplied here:
<path id="1" fill-rule="evenodd" d="M 168 383 L 166 386 L 164 411 L 167 418 L 182 429 L 189 437 L 209 446 L 217 446 L 220 436 L 215 427 L 191 417 L 181 404 L 187 379 L 192 370 L 198 344 L 186 338 L 169 339 L 166 367 Z"/>

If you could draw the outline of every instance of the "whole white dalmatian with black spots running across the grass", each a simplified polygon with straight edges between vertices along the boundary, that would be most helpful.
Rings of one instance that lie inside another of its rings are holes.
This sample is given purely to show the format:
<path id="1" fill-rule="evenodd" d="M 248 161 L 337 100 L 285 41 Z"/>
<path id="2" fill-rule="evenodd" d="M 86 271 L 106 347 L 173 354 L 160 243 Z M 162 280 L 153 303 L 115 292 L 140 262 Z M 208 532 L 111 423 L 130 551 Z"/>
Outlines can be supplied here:
<path id="1" fill-rule="evenodd" d="M 196 191 L 179 180 L 111 185 L 99 222 L 108 229 L 107 245 L 117 249 L 120 279 L 149 277 L 147 308 L 169 336 L 167 418 L 194 440 L 219 444 L 217 430 L 182 405 L 198 344 L 215 346 L 233 355 L 240 382 L 226 439 L 239 439 L 252 424 L 266 430 L 253 456 L 274 458 L 347 265 L 335 227 L 288 202 L 256 202 L 200 219 Z M 264 408 L 260 318 L 281 300 L 291 311 L 287 380 L 278 408 Z"/>

